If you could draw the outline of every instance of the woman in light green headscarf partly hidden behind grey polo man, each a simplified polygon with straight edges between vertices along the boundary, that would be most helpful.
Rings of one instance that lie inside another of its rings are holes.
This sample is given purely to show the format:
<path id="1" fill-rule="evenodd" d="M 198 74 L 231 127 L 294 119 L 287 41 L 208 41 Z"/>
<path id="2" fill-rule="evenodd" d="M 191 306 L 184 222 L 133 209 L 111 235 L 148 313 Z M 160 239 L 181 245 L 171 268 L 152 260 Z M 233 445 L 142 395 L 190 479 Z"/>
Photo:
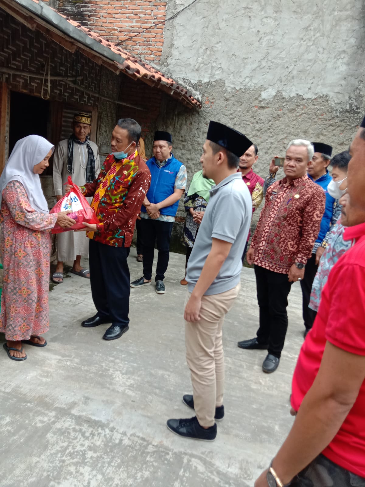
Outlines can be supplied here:
<path id="1" fill-rule="evenodd" d="M 185 277 L 180 284 L 186 286 L 186 267 L 193 245 L 204 215 L 205 208 L 209 201 L 209 191 L 215 185 L 213 179 L 206 179 L 202 169 L 196 172 L 189 187 L 185 191 L 184 206 L 187 213 L 183 228 L 183 244 L 186 246 Z"/>

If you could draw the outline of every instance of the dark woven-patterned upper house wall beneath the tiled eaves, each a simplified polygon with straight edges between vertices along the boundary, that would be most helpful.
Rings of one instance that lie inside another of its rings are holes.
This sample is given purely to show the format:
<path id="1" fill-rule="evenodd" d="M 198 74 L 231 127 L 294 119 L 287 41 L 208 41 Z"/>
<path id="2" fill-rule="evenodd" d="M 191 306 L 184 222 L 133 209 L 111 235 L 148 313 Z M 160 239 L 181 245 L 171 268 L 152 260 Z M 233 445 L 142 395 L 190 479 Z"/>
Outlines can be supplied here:
<path id="1" fill-rule="evenodd" d="M 62 102 L 67 106 L 83 105 L 98 107 L 98 130 L 96 142 L 100 153 L 105 156 L 110 151 L 110 134 L 116 121 L 121 117 L 136 119 L 142 126 L 143 137 L 150 139 L 156 129 L 163 93 L 147 86 L 140 80 L 126 75 L 116 75 L 101 67 L 78 51 L 70 53 L 44 34 L 33 31 L 0 9 L 0 66 L 23 72 L 44 72 L 45 63 L 51 59 L 51 75 L 78 75 L 80 87 L 104 94 L 111 99 L 123 100 L 131 105 L 143 107 L 139 111 L 120 104 L 99 100 L 85 94 L 61 80 L 51 80 L 50 100 Z M 4 75 L 9 90 L 41 96 L 42 79 L 19 75 Z M 45 83 L 47 85 L 47 83 Z M 46 93 L 44 89 L 44 94 Z M 96 124 L 96 120 L 94 122 Z M 53 140 L 58 142 L 58 140 Z"/>

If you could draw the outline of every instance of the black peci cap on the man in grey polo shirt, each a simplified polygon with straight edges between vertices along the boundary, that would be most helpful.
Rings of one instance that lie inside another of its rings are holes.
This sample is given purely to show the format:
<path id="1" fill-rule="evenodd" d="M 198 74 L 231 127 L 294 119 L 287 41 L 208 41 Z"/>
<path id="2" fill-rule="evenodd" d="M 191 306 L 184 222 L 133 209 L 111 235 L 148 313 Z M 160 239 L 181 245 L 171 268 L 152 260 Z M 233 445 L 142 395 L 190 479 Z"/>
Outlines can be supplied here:
<path id="1" fill-rule="evenodd" d="M 206 138 L 224 149 L 233 152 L 237 157 L 240 157 L 252 146 L 251 140 L 243 135 L 243 133 L 219 122 L 210 121 Z"/>

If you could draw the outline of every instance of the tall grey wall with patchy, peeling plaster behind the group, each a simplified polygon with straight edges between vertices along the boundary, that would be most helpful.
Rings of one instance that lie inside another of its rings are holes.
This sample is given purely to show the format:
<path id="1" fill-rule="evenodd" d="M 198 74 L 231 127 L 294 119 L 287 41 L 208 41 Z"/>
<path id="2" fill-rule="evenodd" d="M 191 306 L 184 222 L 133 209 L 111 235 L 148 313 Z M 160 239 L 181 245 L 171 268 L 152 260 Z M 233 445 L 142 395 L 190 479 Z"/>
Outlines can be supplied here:
<path id="1" fill-rule="evenodd" d="M 188 3 L 168 2 L 166 17 Z M 365 108 L 364 38 L 362 0 L 198 0 L 167 22 L 163 70 L 203 104 L 192 112 L 165 97 L 159 119 L 189 179 L 211 119 L 257 144 L 261 176 L 292 138 L 346 150 Z"/>

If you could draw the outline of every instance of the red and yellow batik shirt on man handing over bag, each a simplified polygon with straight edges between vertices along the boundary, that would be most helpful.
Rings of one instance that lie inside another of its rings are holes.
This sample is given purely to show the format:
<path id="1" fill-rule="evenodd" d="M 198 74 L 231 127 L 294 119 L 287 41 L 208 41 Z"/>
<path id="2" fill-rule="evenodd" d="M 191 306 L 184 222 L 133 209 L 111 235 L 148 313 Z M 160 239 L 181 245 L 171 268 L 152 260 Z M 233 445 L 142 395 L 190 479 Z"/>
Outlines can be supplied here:
<path id="1" fill-rule="evenodd" d="M 119 162 L 119 161 L 117 161 Z M 94 196 L 114 163 L 110 154 L 104 161 L 98 177 L 81 187 L 84 196 Z M 151 183 L 151 174 L 137 151 L 123 160 L 96 210 L 99 224 L 93 240 L 114 247 L 130 247 L 134 225 Z"/>

